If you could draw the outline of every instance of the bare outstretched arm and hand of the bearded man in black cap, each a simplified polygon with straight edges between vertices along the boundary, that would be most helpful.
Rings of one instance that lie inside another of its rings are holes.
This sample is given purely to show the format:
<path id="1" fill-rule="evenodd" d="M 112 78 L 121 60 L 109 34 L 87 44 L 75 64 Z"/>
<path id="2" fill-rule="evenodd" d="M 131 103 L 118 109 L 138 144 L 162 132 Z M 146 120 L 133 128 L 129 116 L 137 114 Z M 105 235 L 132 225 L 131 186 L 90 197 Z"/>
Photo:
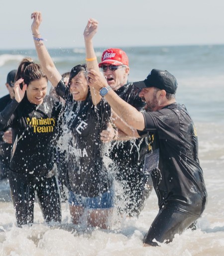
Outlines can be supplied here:
<path id="1" fill-rule="evenodd" d="M 97 91 L 101 88 L 107 87 L 108 83 L 106 79 L 98 74 L 95 70 L 90 70 L 88 73 L 89 80 L 88 84 L 90 87 L 94 87 Z M 145 121 L 143 114 L 137 111 L 134 107 L 123 101 L 113 90 L 105 96 L 107 102 L 111 105 L 112 110 L 124 121 L 128 126 L 138 130 L 145 128 Z"/>

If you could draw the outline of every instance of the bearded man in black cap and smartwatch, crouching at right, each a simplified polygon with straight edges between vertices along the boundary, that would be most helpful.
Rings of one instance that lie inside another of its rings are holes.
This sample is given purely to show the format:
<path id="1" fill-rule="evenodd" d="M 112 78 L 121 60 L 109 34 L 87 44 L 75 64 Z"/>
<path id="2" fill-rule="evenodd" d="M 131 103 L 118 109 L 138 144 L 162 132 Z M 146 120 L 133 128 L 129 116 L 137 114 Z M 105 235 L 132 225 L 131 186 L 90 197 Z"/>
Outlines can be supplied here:
<path id="1" fill-rule="evenodd" d="M 88 76 L 89 85 L 95 89 L 108 86 L 94 70 Z M 207 191 L 194 123 L 186 108 L 175 100 L 176 78 L 166 70 L 153 69 L 144 81 L 134 85 L 142 88 L 139 96 L 146 102 L 146 112 L 138 112 L 112 90 L 104 97 L 116 114 L 136 129 L 136 137 L 148 137 L 151 152 L 145 157 L 144 171 L 151 172 L 159 213 L 144 237 L 144 245 L 157 246 L 157 242 L 171 242 L 175 234 L 181 234 L 202 215 Z"/>

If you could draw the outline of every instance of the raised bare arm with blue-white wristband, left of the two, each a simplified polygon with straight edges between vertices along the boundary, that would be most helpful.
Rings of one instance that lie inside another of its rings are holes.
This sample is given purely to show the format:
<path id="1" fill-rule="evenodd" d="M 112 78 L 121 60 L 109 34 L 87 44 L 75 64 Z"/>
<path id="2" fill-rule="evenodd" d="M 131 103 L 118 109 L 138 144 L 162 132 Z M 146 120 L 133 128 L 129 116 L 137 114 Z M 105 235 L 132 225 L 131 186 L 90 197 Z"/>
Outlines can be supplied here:
<path id="1" fill-rule="evenodd" d="M 48 53 L 47 48 L 44 45 L 44 40 L 39 27 L 42 22 L 42 14 L 39 11 L 34 11 L 31 14 L 31 19 L 33 19 L 31 29 L 33 33 L 33 41 L 35 44 L 36 52 L 40 61 L 40 65 L 44 71 L 44 73 L 47 75 L 48 80 L 51 82 L 51 84 L 56 87 L 59 81 L 61 80 L 62 76 L 56 69 L 54 62 L 51 59 L 50 54 Z"/>

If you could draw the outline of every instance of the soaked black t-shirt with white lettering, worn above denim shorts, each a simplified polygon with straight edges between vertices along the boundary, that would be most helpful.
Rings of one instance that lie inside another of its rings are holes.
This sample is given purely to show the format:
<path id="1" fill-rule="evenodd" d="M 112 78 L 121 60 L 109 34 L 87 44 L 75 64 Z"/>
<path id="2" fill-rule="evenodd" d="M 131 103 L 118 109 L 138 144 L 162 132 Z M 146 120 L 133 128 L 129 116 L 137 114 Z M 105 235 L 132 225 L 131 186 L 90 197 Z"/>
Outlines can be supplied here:
<path id="1" fill-rule="evenodd" d="M 67 152 L 69 189 L 75 194 L 95 197 L 111 187 L 103 162 L 104 143 L 100 139 L 100 132 L 107 128 L 111 108 L 104 99 L 94 106 L 90 92 L 85 101 L 73 101 L 68 91 L 60 81 L 56 92 L 66 99 L 65 115 L 69 113 L 72 117 L 69 124 L 65 120 L 71 130 Z"/>

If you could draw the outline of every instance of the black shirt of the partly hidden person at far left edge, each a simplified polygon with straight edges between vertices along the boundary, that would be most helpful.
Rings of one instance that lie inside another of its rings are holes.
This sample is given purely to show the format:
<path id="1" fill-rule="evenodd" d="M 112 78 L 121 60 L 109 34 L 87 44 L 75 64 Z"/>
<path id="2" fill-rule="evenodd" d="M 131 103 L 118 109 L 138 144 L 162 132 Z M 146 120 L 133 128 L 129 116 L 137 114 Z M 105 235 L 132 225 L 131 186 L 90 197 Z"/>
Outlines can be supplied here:
<path id="1" fill-rule="evenodd" d="M 6 107 L 6 105 L 11 101 L 10 95 L 5 95 L 4 97 L 0 98 L 0 112 Z M 2 136 L 4 131 L 0 131 L 0 160 L 8 164 L 10 160 L 10 152 L 11 152 L 11 144 L 5 143 L 2 140 Z"/>

